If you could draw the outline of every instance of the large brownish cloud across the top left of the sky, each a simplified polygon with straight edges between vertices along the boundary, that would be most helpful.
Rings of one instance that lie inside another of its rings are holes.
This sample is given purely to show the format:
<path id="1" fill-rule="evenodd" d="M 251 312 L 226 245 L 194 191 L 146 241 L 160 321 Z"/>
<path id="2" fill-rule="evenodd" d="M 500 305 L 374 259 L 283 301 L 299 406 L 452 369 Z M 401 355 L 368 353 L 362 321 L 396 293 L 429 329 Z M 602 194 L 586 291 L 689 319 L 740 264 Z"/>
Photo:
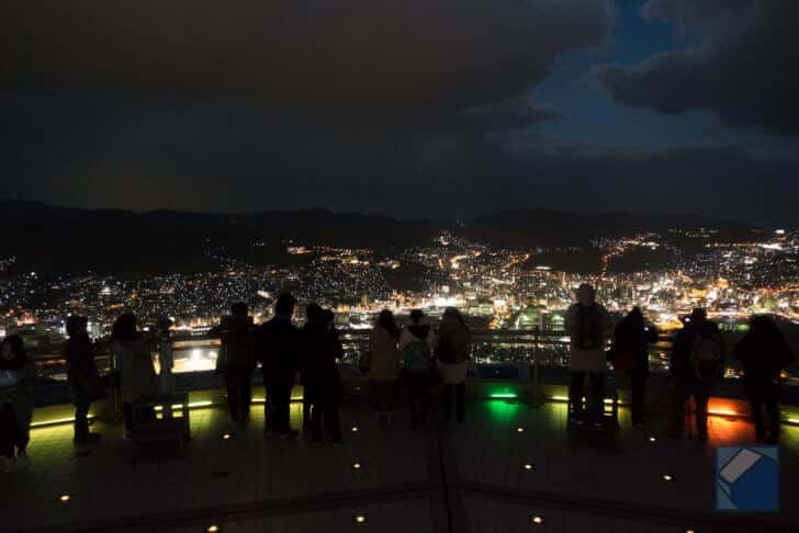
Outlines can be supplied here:
<path id="1" fill-rule="evenodd" d="M 270 105 L 480 105 L 599 46 L 611 0 L 5 0 L 0 87 Z"/>

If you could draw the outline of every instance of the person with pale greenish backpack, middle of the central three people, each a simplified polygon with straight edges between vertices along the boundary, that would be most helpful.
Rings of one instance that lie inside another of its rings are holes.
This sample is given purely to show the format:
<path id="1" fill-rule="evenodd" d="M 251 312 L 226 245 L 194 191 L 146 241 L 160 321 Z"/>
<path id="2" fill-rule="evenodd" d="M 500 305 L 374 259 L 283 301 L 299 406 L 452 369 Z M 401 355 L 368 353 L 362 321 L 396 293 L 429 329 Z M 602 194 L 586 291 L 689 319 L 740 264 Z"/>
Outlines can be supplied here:
<path id="1" fill-rule="evenodd" d="M 434 382 L 435 360 L 432 347 L 435 333 L 429 324 L 423 324 L 421 309 L 410 311 L 410 325 L 400 336 L 400 359 L 402 381 L 410 406 L 410 427 L 423 426 L 427 421 L 430 402 L 430 387 Z"/>

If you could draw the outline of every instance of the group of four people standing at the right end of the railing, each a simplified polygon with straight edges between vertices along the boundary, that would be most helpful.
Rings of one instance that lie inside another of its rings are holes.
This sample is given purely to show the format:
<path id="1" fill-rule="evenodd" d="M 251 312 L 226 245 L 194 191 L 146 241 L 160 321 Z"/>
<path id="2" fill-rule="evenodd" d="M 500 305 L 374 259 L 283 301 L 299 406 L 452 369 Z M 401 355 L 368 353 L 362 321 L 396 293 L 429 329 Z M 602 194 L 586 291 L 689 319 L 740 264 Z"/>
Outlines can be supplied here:
<path id="1" fill-rule="evenodd" d="M 603 423 L 608 361 L 617 377 L 624 376 L 629 382 L 632 426 L 643 427 L 649 347 L 657 341 L 655 327 L 646 324 L 641 309 L 634 307 L 614 328 L 610 315 L 596 302 L 588 284 L 578 287 L 577 302 L 569 308 L 565 326 L 571 338 L 570 417 L 579 424 Z M 732 354 L 743 366 L 743 392 L 750 402 L 755 436 L 758 442 L 775 444 L 780 429 L 780 372 L 796 356 L 774 320 L 763 315 L 752 318 L 749 332 Z M 693 398 L 697 439 L 708 440 L 708 400 L 713 385 L 723 378 L 725 355 L 718 325 L 708 319 L 705 309 L 694 309 L 684 318 L 671 353 L 669 436 L 683 436 L 685 406 Z M 592 383 L 592 395 L 584 401 L 586 377 Z"/>

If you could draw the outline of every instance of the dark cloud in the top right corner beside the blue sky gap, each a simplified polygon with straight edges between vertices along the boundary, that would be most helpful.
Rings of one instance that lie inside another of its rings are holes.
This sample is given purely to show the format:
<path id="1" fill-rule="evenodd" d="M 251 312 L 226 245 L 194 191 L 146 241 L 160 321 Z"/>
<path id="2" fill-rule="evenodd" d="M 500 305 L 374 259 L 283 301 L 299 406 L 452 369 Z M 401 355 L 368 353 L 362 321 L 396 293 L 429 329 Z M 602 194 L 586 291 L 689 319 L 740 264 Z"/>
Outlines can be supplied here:
<path id="1" fill-rule="evenodd" d="M 728 126 L 799 135 L 799 2 L 651 0 L 643 15 L 679 25 L 699 44 L 595 69 L 615 102 L 663 113 L 709 110 Z"/>

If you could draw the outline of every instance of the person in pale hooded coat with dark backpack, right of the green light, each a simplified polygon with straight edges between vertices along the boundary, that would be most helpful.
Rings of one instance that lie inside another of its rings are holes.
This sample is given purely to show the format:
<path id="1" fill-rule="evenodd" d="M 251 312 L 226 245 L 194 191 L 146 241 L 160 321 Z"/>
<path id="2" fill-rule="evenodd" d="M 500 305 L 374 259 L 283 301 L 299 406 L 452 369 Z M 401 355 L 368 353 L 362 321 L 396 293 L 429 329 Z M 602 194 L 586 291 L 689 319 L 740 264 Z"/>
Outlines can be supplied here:
<path id="1" fill-rule="evenodd" d="M 589 418 L 594 423 L 600 423 L 605 390 L 605 345 L 614 325 L 607 309 L 596 302 L 593 286 L 583 283 L 577 287 L 577 303 L 572 304 L 566 311 L 565 326 L 571 338 L 572 384 L 569 388 L 569 402 L 574 421 L 585 422 L 583 387 L 588 374 L 592 383 Z"/>

